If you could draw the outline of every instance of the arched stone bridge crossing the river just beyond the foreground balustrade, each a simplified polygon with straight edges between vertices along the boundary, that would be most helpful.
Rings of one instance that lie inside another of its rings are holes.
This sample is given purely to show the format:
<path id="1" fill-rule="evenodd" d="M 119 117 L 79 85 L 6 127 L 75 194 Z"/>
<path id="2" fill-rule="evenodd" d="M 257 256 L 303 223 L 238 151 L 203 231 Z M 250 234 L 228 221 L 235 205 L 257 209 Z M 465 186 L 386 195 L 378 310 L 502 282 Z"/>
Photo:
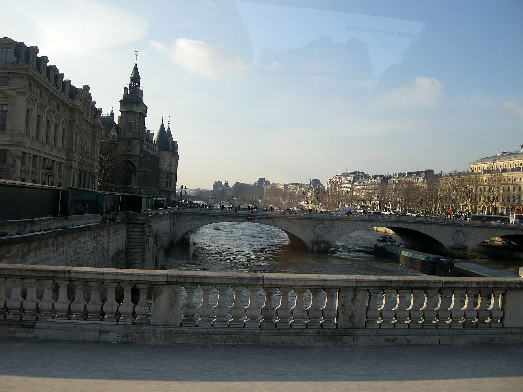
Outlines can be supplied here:
<path id="1" fill-rule="evenodd" d="M 291 243 L 311 252 L 327 252 L 340 238 L 363 229 L 386 227 L 407 248 L 457 258 L 482 241 L 503 237 L 523 244 L 523 225 L 496 222 L 431 220 L 413 216 L 334 214 L 279 211 L 174 209 L 173 240 L 212 223 L 249 222 L 277 227 Z"/>

